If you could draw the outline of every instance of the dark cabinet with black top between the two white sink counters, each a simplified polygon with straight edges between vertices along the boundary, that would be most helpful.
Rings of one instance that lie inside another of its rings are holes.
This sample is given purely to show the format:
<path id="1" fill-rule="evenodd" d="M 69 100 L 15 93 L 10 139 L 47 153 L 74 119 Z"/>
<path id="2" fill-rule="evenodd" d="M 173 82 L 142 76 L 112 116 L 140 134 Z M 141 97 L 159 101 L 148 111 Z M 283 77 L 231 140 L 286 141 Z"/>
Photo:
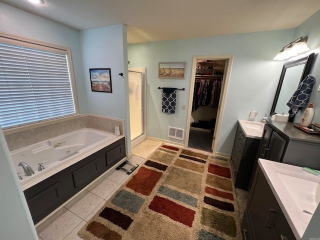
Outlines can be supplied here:
<path id="1" fill-rule="evenodd" d="M 264 125 L 249 183 L 252 185 L 257 159 L 263 158 L 296 166 L 320 169 L 320 135 L 307 134 L 295 127 L 299 123 L 270 121 Z"/>

